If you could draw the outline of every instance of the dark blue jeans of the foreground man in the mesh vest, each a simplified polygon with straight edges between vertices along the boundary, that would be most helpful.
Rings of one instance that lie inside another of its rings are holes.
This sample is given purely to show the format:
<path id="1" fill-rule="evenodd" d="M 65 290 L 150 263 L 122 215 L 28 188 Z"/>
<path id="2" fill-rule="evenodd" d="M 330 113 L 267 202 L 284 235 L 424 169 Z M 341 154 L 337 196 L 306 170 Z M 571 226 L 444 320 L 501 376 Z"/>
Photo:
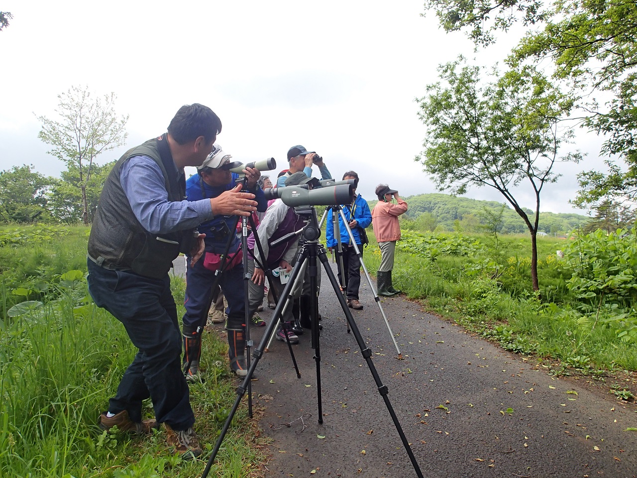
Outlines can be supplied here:
<path id="1" fill-rule="evenodd" d="M 110 312 L 139 349 L 111 398 L 108 410 L 128 410 L 141 421 L 141 402 L 151 398 L 155 418 L 173 430 L 194 424 L 188 384 L 182 372 L 182 333 L 168 275 L 150 279 L 136 273 L 89 264 L 89 293 L 97 307 Z"/>

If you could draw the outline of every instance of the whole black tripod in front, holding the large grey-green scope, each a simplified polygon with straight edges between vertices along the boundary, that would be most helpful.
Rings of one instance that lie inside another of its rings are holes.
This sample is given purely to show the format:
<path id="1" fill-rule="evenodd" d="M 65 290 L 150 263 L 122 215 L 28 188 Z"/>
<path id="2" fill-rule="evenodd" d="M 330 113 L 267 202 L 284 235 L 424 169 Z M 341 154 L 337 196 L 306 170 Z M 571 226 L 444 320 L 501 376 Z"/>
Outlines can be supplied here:
<path id="1" fill-rule="evenodd" d="M 318 334 L 317 257 L 323 264 L 327 277 L 329 278 L 329 281 L 332 284 L 332 287 L 334 289 L 334 293 L 336 294 L 336 298 L 338 298 L 338 301 L 341 305 L 341 308 L 343 309 L 345 317 L 347 317 L 348 325 L 350 326 L 352 332 L 354 333 L 356 342 L 359 345 L 359 348 L 361 349 L 362 356 L 368 365 L 369 371 L 371 372 L 371 375 L 375 381 L 376 387 L 378 387 L 378 393 L 380 393 L 380 395 L 382 396 L 383 401 L 385 402 L 385 406 L 387 407 L 387 410 L 389 411 L 390 417 L 392 421 L 394 422 L 394 426 L 396 426 L 398 435 L 400 436 L 401 441 L 403 442 L 403 445 L 407 451 L 407 454 L 410 460 L 412 461 L 412 466 L 416 472 L 416 475 L 419 478 L 422 478 L 423 475 L 422 475 L 422 472 L 420 471 L 418 462 L 413 454 L 412 447 L 410 446 L 407 438 L 405 437 L 403 429 L 401 428 L 401 425 L 396 417 L 396 413 L 394 412 L 394 409 L 389 401 L 389 398 L 387 397 L 388 388 L 387 386 L 382 384 L 382 381 L 380 380 L 380 376 L 378 375 L 378 372 L 376 371 L 373 361 L 371 360 L 372 352 L 368 348 L 368 346 L 365 344 L 365 341 L 362 338 L 359 328 L 354 321 L 354 317 L 352 317 L 352 312 L 350 312 L 349 308 L 347 307 L 347 302 L 345 301 L 345 298 L 340 291 L 338 281 L 336 280 L 336 277 L 334 277 L 334 273 L 332 272 L 329 266 L 326 249 L 323 245 L 318 243 L 318 238 L 320 237 L 320 228 L 318 226 L 316 211 L 313 207 L 302 208 L 302 209 L 297 208 L 295 211 L 297 212 L 297 214 L 303 214 L 308 224 L 303 231 L 303 238 L 305 242 L 303 243 L 303 245 L 301 245 L 301 247 L 299 247 L 299 250 L 297 251 L 294 267 L 292 268 L 290 279 L 288 280 L 285 286 L 285 289 L 283 290 L 282 296 L 287 297 L 290 295 L 292 291 L 292 287 L 294 287 L 294 284 L 296 282 L 297 276 L 299 275 L 301 270 L 303 270 L 303 266 L 307 261 L 308 263 L 307 267 L 310 272 L 310 291 L 311 291 L 311 295 L 310 295 L 311 346 L 315 350 L 314 359 L 316 362 L 316 369 L 317 369 L 318 423 L 320 424 L 323 423 L 323 413 L 322 413 L 322 396 L 321 396 L 321 386 L 320 386 L 320 340 L 319 340 L 319 334 Z M 283 300 L 278 301 L 275 308 L 274 317 L 280 317 L 281 311 L 284 307 L 284 302 L 285 301 Z M 202 478 L 206 478 L 208 476 L 208 473 L 210 472 L 212 463 L 215 461 L 215 458 L 217 457 L 217 453 L 224 440 L 225 434 L 227 433 L 230 427 L 230 424 L 234 418 L 234 414 L 236 413 L 236 410 L 238 409 L 241 403 L 241 399 L 243 398 L 243 395 L 245 395 L 245 391 L 248 388 L 248 384 L 250 384 L 250 379 L 252 378 L 252 375 L 254 374 L 254 370 L 257 366 L 257 363 L 259 363 L 259 360 L 261 359 L 263 355 L 264 347 L 267 344 L 270 335 L 273 333 L 276 323 L 277 321 L 275 321 L 274 319 L 270 321 L 270 323 L 268 324 L 268 328 L 266 328 L 266 331 L 263 335 L 261 343 L 254 350 L 254 355 L 253 355 L 254 361 L 248 368 L 248 373 L 243 379 L 243 382 L 236 390 L 237 398 L 234 401 L 231 412 L 229 413 L 227 419 L 225 420 L 222 430 L 220 431 L 220 435 L 217 439 L 217 442 L 215 443 L 215 447 L 212 451 L 212 454 L 210 455 L 210 458 L 208 459 L 208 463 L 203 472 Z"/>

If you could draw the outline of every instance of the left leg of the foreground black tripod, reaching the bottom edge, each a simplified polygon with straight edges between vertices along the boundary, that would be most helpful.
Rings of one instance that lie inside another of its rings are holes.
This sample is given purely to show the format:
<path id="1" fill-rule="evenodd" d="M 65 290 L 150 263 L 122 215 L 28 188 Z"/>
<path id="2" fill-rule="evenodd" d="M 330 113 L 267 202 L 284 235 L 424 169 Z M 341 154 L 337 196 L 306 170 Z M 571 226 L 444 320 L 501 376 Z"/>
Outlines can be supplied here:
<path id="1" fill-rule="evenodd" d="M 303 249 L 304 248 L 302 247 L 301 250 L 299 251 L 299 254 L 297 254 L 297 259 L 304 259 L 305 256 L 304 255 L 302 256 L 302 254 L 305 254 L 303 252 Z M 301 264 L 303 264 L 303 260 L 297 261 L 295 266 L 292 268 L 292 274 L 290 275 L 290 280 L 288 281 L 287 284 L 285 284 L 285 288 L 283 289 L 283 293 L 281 294 L 282 297 L 285 297 L 292 293 L 294 280 L 296 279 L 296 276 L 299 274 L 299 271 L 301 270 L 301 267 L 300 267 Z M 274 317 L 280 317 L 282 310 L 283 310 L 283 301 L 280 300 L 279 303 L 276 304 Z M 270 321 L 270 323 L 266 327 L 266 331 L 263 334 L 263 338 L 261 339 L 261 342 L 254 349 L 254 353 L 252 354 L 254 361 L 251 363 L 250 367 L 248 367 L 248 373 L 244 377 L 243 382 L 241 382 L 241 385 L 238 386 L 236 389 L 237 398 L 236 400 L 234 400 L 233 408 L 230 410 L 228 417 L 225 419 L 224 426 L 221 429 L 219 438 L 217 438 L 217 442 L 215 443 L 215 447 L 212 451 L 212 454 L 210 455 L 210 458 L 208 458 L 208 463 L 206 464 L 206 468 L 204 469 L 204 472 L 201 475 L 201 478 L 206 478 L 208 476 L 208 473 L 210 473 L 210 468 L 212 467 L 212 463 L 215 461 L 215 458 L 217 458 L 217 453 L 219 452 L 219 449 L 221 448 L 221 444 L 224 441 L 225 434 L 228 432 L 228 429 L 230 428 L 230 424 L 233 421 L 234 414 L 236 414 L 236 411 L 239 408 L 239 405 L 241 404 L 241 399 L 243 398 L 243 395 L 245 395 L 245 392 L 248 389 L 248 384 L 250 384 L 250 380 L 252 380 L 252 375 L 254 375 L 254 370 L 257 368 L 257 364 L 259 363 L 259 360 L 261 360 L 261 357 L 263 356 L 263 349 L 266 346 L 266 344 L 268 344 L 268 338 L 270 337 L 270 335 L 272 335 L 275 326 L 276 326 L 276 321 L 275 320 Z"/>

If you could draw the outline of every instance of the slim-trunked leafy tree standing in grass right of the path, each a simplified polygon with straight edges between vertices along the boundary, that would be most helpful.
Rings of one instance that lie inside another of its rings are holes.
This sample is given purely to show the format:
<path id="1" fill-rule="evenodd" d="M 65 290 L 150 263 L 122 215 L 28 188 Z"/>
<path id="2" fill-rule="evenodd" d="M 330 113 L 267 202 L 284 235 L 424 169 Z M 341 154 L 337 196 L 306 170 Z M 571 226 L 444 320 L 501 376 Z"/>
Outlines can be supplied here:
<path id="1" fill-rule="evenodd" d="M 441 191 L 464 194 L 471 186 L 489 186 L 505 196 L 531 234 L 531 278 L 539 290 L 537 270 L 540 194 L 559 178 L 558 161 L 579 161 L 578 153 L 560 156 L 562 143 L 573 137 L 560 126 L 573 108 L 532 66 L 482 79 L 478 66 L 462 66 L 462 57 L 438 68 L 440 82 L 427 86 L 419 99 L 419 117 L 427 127 L 424 150 L 416 157 Z M 522 182 L 535 197 L 529 214 L 515 198 Z"/>

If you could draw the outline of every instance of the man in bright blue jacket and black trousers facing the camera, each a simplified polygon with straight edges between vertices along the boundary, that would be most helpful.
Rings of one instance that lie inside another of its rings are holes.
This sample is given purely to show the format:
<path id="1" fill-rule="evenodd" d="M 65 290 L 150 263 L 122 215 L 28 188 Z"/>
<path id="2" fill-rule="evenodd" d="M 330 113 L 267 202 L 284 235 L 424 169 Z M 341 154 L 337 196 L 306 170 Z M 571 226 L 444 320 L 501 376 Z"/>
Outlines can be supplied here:
<path id="1" fill-rule="evenodd" d="M 371 224 L 371 212 L 369 211 L 369 206 L 367 201 L 362 198 L 361 194 L 356 194 L 356 187 L 358 186 L 358 175 L 355 171 L 347 171 L 343 175 L 343 180 L 354 179 L 355 187 L 354 187 L 354 201 L 352 204 L 344 204 L 341 205 L 343 208 L 343 214 L 345 215 L 345 219 L 347 219 L 347 225 L 350 229 L 352 229 L 352 236 L 354 236 L 354 241 L 358 246 L 358 249 L 361 251 L 362 257 L 362 240 L 361 240 L 361 229 L 367 228 L 369 224 Z M 327 213 L 328 221 L 327 221 L 327 233 L 326 233 L 326 241 L 327 241 L 327 249 L 329 252 L 332 252 L 336 249 L 336 260 L 340 259 L 341 254 L 338 252 L 338 239 L 334 235 L 334 224 L 331 221 L 332 217 L 332 209 L 330 208 Z M 343 248 L 343 274 L 345 275 L 345 288 L 347 293 L 347 305 L 350 308 L 355 308 L 356 310 L 362 309 L 362 304 L 359 302 L 359 287 L 361 286 L 361 261 L 359 259 L 358 254 L 356 254 L 356 250 L 354 249 L 354 245 L 350 243 L 350 236 L 347 233 L 347 229 L 345 228 L 345 224 L 343 223 L 343 218 L 341 215 L 338 215 L 338 226 L 339 233 L 341 236 L 341 247 Z M 341 280 L 341 272 L 338 273 L 338 279 L 343 284 Z"/>

